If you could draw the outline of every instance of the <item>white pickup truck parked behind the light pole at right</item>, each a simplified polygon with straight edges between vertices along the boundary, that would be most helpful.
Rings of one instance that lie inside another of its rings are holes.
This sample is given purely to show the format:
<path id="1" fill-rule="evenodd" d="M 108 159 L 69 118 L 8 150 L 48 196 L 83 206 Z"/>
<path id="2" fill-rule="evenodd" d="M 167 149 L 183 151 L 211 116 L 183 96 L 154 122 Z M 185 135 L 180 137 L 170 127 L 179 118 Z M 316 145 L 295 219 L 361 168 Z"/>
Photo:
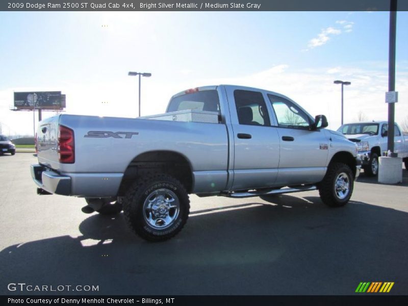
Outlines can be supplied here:
<path id="1" fill-rule="evenodd" d="M 371 121 L 343 124 L 337 130 L 358 146 L 359 157 L 366 175 L 378 174 L 378 157 L 385 155 L 388 147 L 388 122 Z M 408 136 L 404 136 L 397 123 L 394 125 L 394 152 L 401 157 L 408 169 Z"/>

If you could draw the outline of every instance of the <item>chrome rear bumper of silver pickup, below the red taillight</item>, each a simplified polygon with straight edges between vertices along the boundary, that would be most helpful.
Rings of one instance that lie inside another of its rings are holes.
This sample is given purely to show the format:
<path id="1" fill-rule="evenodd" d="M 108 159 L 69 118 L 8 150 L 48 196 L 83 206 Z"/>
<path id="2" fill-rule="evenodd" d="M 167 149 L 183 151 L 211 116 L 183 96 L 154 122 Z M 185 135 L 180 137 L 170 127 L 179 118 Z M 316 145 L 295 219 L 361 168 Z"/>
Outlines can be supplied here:
<path id="1" fill-rule="evenodd" d="M 31 177 L 41 189 L 55 194 L 71 194 L 71 178 L 48 170 L 41 165 L 31 165 Z"/>

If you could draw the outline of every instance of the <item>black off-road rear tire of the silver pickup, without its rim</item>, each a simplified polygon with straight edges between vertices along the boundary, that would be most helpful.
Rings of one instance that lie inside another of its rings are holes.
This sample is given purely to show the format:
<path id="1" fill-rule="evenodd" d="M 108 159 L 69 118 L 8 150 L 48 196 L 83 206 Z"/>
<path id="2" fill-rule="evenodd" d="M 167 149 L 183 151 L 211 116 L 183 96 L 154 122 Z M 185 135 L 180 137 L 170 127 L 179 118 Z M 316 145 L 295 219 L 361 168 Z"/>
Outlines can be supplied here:
<path id="1" fill-rule="evenodd" d="M 152 227 L 146 218 L 144 204 L 156 190 L 167 190 L 179 201 L 179 213 L 169 226 L 163 229 Z M 135 182 L 126 192 L 123 199 L 123 215 L 131 230 L 141 238 L 157 242 L 174 237 L 186 224 L 190 213 L 190 199 L 186 188 L 168 174 L 153 174 Z"/>

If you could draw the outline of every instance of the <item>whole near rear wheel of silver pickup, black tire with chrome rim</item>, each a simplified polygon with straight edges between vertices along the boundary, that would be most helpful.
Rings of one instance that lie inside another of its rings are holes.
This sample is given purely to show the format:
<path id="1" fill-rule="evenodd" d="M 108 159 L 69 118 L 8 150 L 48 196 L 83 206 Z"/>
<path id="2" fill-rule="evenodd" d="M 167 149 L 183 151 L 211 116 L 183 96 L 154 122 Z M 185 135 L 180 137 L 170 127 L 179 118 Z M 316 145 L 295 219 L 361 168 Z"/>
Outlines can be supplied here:
<path id="1" fill-rule="evenodd" d="M 189 212 L 186 189 L 167 174 L 135 183 L 123 200 L 123 213 L 130 228 L 148 241 L 167 240 L 179 233 Z"/>

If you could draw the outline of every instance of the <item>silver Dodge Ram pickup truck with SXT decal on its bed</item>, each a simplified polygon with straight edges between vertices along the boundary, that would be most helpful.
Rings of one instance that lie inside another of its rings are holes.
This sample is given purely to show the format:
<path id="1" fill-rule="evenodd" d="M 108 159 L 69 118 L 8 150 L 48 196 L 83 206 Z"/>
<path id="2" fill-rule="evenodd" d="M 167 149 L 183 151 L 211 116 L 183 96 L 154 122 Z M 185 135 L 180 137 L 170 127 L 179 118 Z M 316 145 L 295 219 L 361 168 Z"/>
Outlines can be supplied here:
<path id="1" fill-rule="evenodd" d="M 85 198 L 86 213 L 119 213 L 142 238 L 173 237 L 198 196 L 250 197 L 319 190 L 345 205 L 360 173 L 356 145 L 276 92 L 189 89 L 162 115 L 58 115 L 39 124 L 38 194 Z"/>

